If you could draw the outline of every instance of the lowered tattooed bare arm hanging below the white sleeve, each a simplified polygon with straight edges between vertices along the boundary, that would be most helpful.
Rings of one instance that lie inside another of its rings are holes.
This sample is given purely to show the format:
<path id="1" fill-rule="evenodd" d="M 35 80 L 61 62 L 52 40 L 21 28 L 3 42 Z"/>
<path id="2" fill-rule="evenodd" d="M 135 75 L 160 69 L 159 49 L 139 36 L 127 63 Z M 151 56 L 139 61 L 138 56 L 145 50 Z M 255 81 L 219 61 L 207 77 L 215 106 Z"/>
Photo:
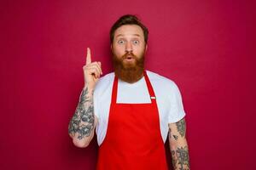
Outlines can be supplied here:
<path id="1" fill-rule="evenodd" d="M 186 139 L 186 122 L 169 123 L 169 144 L 172 153 L 172 166 L 175 170 L 189 170 L 189 147 Z"/>

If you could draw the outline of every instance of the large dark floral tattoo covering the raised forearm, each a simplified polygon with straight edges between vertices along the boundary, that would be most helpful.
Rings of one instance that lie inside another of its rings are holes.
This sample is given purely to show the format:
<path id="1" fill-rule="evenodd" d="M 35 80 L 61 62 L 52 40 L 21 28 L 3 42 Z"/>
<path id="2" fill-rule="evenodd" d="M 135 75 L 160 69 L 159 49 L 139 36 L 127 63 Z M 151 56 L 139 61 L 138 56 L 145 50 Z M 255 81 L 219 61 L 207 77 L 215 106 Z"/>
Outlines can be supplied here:
<path id="1" fill-rule="evenodd" d="M 90 136 L 94 128 L 94 119 L 93 100 L 92 97 L 89 96 L 89 91 L 86 87 L 82 91 L 79 105 L 76 108 L 73 118 L 69 122 L 68 133 L 78 133 L 78 139 L 83 139 L 84 136 Z"/>

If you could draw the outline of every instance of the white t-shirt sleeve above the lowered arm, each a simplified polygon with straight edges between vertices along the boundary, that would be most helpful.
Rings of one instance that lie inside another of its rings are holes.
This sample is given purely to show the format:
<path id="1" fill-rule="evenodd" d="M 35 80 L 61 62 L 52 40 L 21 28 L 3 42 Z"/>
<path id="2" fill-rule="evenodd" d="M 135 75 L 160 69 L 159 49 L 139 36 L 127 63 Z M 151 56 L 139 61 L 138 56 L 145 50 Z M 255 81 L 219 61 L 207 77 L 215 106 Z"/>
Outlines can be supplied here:
<path id="1" fill-rule="evenodd" d="M 168 123 L 178 122 L 185 116 L 183 110 L 183 101 L 179 89 L 175 82 L 172 83 L 170 93 L 170 109 L 168 114 Z"/>

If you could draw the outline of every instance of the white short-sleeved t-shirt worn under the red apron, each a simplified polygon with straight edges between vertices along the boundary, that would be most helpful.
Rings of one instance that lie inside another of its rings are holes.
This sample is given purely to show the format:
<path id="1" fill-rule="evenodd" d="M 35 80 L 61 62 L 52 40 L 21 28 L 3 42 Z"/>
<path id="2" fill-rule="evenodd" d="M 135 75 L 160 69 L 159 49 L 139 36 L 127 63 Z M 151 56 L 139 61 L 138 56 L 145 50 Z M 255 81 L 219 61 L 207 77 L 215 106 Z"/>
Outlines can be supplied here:
<path id="1" fill-rule="evenodd" d="M 154 88 L 160 117 L 160 133 L 164 142 L 168 134 L 168 123 L 178 122 L 185 116 L 183 102 L 177 85 L 172 80 L 147 71 Z M 101 77 L 94 91 L 94 111 L 98 119 L 96 125 L 97 142 L 102 144 L 108 127 L 108 115 L 112 97 L 114 73 Z M 144 77 L 135 83 L 119 80 L 117 103 L 151 103 Z"/>

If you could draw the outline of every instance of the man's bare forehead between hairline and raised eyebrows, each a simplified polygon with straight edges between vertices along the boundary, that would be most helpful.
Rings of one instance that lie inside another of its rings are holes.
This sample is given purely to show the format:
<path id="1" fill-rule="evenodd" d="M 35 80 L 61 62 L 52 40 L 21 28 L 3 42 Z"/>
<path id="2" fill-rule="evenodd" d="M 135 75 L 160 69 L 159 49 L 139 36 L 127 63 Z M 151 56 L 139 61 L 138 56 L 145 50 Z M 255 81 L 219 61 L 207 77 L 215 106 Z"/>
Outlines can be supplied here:
<path id="1" fill-rule="evenodd" d="M 139 36 L 143 37 L 143 29 L 137 25 L 125 25 L 120 26 L 116 31 L 114 31 L 113 37 L 119 36 Z"/>

